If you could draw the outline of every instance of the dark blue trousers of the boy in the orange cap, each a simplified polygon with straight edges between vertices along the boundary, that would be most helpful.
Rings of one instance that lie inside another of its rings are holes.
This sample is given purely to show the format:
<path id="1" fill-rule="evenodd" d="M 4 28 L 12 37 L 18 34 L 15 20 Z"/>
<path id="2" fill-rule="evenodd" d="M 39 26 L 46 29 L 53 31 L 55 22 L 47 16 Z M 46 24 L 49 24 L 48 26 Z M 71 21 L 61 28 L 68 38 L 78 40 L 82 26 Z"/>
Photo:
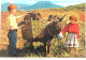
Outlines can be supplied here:
<path id="1" fill-rule="evenodd" d="M 17 43 L 17 36 L 16 36 L 17 30 L 10 30 L 8 33 L 9 38 L 9 56 L 15 57 L 16 56 L 16 43 Z"/>

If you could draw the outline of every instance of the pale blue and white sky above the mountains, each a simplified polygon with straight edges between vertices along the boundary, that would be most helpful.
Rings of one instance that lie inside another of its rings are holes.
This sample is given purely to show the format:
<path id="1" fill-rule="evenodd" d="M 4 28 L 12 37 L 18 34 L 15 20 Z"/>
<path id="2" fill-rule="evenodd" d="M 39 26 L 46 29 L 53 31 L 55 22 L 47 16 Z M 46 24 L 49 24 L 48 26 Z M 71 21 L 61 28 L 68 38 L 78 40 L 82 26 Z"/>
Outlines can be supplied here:
<path id="1" fill-rule="evenodd" d="M 86 0 L 1 0 L 1 4 L 10 2 L 10 3 L 20 3 L 20 4 L 31 5 L 37 3 L 38 1 L 52 1 L 54 4 L 69 6 L 69 5 L 85 3 Z"/>

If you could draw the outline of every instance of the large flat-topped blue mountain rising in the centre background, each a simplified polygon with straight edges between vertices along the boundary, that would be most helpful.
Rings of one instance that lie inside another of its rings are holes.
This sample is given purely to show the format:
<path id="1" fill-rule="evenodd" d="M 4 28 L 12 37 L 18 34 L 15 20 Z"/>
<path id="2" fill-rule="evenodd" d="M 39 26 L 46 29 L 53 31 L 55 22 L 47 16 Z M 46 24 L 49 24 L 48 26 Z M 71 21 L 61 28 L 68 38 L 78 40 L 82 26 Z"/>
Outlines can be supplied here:
<path id="1" fill-rule="evenodd" d="M 20 8 L 20 10 L 30 11 L 30 10 L 52 9 L 52 8 L 62 8 L 62 5 L 56 5 L 51 1 L 39 1 L 30 6 Z"/>

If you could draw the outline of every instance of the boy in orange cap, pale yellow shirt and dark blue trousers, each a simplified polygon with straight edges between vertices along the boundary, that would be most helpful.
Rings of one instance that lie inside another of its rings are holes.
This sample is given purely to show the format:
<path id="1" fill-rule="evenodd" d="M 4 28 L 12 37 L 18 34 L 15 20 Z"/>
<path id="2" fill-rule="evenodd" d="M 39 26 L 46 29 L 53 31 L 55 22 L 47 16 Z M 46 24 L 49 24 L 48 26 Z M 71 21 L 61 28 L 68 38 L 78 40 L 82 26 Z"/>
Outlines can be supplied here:
<path id="1" fill-rule="evenodd" d="M 17 6 L 14 4 L 10 4 L 8 6 L 9 16 L 8 16 L 6 26 L 8 26 L 8 30 L 9 30 L 8 38 L 9 38 L 9 56 L 10 57 L 16 56 L 16 50 L 17 50 L 17 48 L 16 48 L 16 43 L 17 43 L 16 32 L 17 32 L 18 28 L 23 27 L 23 26 L 17 27 L 16 18 L 20 18 L 20 17 L 25 16 L 25 15 L 15 16 L 16 9 L 17 9 Z"/>

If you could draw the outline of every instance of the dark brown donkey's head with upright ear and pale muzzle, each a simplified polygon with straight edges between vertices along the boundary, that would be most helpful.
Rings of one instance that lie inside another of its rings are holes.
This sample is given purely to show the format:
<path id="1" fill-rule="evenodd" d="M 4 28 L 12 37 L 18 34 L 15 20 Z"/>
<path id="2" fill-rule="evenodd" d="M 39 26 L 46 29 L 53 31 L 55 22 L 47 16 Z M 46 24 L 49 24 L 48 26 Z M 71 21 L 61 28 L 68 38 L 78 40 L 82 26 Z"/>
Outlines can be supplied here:
<path id="1" fill-rule="evenodd" d="M 53 30 L 53 33 L 58 38 L 58 40 L 62 39 L 62 33 L 60 33 L 60 32 L 61 32 L 61 28 L 62 28 L 63 17 L 59 18 L 58 20 L 53 21 L 52 30 Z"/>

